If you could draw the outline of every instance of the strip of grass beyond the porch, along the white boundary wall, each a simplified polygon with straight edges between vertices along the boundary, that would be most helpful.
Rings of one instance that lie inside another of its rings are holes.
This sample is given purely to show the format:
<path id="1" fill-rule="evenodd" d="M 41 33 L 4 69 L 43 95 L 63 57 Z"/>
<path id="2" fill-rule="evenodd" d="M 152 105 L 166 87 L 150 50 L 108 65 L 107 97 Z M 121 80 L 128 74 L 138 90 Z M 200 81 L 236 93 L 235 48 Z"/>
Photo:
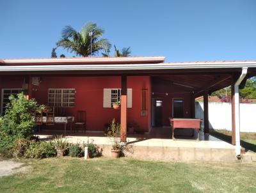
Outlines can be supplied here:
<path id="1" fill-rule="evenodd" d="M 210 130 L 210 134 L 214 137 L 218 137 L 227 143 L 231 143 L 232 132 L 227 130 Z M 246 150 L 256 152 L 256 133 L 245 133 L 241 132 L 241 146 Z"/>

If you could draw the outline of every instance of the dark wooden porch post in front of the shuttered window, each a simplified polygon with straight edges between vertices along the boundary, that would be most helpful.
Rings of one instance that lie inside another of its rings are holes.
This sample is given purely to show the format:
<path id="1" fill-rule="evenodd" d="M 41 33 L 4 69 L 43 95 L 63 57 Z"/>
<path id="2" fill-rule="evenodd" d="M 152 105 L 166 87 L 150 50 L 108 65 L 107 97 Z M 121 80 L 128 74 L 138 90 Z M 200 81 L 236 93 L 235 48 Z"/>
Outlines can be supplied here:
<path id="1" fill-rule="evenodd" d="M 127 77 L 122 75 L 121 90 L 121 141 L 126 142 L 127 138 Z"/>

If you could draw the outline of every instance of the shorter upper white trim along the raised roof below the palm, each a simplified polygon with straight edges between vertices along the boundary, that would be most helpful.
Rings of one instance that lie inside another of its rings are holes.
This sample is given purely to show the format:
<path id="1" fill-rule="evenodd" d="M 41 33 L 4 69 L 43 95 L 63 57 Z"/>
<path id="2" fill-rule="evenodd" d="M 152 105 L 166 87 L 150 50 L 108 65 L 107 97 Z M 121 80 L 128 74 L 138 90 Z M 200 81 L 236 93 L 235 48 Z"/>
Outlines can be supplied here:
<path id="1" fill-rule="evenodd" d="M 163 62 L 165 57 L 84 57 L 84 58 L 31 58 L 31 59 L 3 59 L 2 62 L 6 64 L 17 63 L 108 63 L 108 62 L 149 62 L 160 61 Z"/>

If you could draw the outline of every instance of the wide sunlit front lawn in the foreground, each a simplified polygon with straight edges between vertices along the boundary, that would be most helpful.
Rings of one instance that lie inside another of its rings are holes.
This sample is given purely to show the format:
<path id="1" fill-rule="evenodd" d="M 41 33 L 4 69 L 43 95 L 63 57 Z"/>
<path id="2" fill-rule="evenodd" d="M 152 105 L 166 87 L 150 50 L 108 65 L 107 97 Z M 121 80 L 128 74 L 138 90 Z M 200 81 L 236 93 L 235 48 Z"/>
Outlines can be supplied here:
<path id="1" fill-rule="evenodd" d="M 255 164 L 143 162 L 129 158 L 23 161 L 0 192 L 256 192 Z"/>

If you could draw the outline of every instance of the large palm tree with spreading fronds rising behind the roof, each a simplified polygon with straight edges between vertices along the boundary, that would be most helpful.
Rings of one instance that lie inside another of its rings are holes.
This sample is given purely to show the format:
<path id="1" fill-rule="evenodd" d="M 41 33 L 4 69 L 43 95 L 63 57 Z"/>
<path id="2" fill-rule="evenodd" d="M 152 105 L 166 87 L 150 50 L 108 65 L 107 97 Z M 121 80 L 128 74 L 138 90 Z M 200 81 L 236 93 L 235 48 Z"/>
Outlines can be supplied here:
<path id="1" fill-rule="evenodd" d="M 92 56 L 95 56 L 100 50 L 109 52 L 111 44 L 106 38 L 101 38 L 104 30 L 92 22 L 84 25 L 81 31 L 76 31 L 71 26 L 65 26 L 62 30 L 62 38 L 56 45 L 69 52 L 74 52 L 77 56 L 90 56 L 91 36 L 89 33 L 92 33 Z"/>

